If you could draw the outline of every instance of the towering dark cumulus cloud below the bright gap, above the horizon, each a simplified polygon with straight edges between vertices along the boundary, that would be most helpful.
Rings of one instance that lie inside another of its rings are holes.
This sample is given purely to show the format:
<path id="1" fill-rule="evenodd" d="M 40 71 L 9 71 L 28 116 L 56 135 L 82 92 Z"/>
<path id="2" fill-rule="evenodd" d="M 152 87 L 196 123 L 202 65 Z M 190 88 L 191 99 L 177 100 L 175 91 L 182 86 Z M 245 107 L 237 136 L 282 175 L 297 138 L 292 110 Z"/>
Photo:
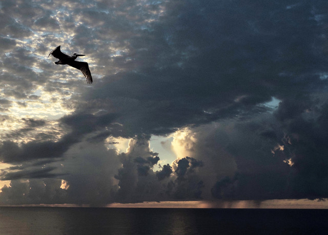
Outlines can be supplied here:
<path id="1" fill-rule="evenodd" d="M 154 173 L 149 159 L 157 160 L 158 157 L 149 155 L 154 155 L 149 149 L 149 137 L 140 136 L 130 141 L 129 151 L 119 156 L 122 167 L 115 175 L 119 181 L 115 201 L 127 203 L 201 198 L 203 182 L 197 176 L 201 161 L 182 158 L 174 172 L 167 164 Z"/>

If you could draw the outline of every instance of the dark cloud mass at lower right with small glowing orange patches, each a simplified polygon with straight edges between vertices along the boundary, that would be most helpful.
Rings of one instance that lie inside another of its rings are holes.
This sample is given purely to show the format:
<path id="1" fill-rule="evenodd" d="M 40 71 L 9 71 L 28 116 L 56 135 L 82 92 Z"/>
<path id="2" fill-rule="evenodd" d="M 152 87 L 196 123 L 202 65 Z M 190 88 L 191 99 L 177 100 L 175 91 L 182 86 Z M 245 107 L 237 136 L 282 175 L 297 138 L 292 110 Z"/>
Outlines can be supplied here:
<path id="1" fill-rule="evenodd" d="M 256 122 L 239 123 L 238 136 L 235 131 L 228 134 L 226 149 L 234 156 L 237 169 L 234 176 L 221 177 L 213 185 L 214 198 L 326 197 L 327 100 L 305 100 L 300 101 L 302 109 L 286 102 L 275 112 L 277 119 L 262 115 Z M 299 115 L 292 112 L 294 109 Z M 261 137 L 259 133 L 270 135 Z"/>

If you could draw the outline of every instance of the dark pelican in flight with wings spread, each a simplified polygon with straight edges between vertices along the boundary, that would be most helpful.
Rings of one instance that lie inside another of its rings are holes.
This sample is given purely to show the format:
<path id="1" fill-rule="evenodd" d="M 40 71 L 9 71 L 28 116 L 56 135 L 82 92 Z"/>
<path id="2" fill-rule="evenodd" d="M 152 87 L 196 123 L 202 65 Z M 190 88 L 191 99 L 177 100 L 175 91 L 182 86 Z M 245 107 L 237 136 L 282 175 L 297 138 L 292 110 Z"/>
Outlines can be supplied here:
<path id="1" fill-rule="evenodd" d="M 72 56 L 66 55 L 60 51 L 60 46 L 56 47 L 52 52 L 50 52 L 50 54 L 48 55 L 48 58 L 50 55 L 59 59 L 58 61 L 55 62 L 56 65 L 72 66 L 75 69 L 78 69 L 83 73 L 83 75 L 86 77 L 86 82 L 88 82 L 88 84 L 92 83 L 92 76 L 91 76 L 91 72 L 89 70 L 88 63 L 75 61 L 77 56 L 85 56 L 85 55 L 81 55 L 81 54 L 77 54 L 77 53 L 74 53 Z"/>

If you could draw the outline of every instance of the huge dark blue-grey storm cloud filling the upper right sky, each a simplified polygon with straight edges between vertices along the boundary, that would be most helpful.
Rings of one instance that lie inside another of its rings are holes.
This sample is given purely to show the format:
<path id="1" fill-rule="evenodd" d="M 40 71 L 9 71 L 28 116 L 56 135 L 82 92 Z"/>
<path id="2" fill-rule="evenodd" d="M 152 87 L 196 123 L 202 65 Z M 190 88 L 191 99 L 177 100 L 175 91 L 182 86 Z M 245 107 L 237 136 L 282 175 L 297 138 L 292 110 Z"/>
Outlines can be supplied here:
<path id="1" fill-rule="evenodd" d="M 324 45 L 318 36 L 324 31 L 310 6 L 171 5 L 150 25 L 152 31 L 136 30 L 138 36 L 129 39 L 130 53 L 118 61 L 125 66 L 130 58 L 137 69 L 104 79 L 95 84 L 99 92 L 86 96 L 111 98 L 119 107 L 118 121 L 134 133 L 163 134 L 240 111 L 263 112 L 254 105 L 326 83 L 313 75 L 325 71 L 327 59 L 313 50 Z"/>

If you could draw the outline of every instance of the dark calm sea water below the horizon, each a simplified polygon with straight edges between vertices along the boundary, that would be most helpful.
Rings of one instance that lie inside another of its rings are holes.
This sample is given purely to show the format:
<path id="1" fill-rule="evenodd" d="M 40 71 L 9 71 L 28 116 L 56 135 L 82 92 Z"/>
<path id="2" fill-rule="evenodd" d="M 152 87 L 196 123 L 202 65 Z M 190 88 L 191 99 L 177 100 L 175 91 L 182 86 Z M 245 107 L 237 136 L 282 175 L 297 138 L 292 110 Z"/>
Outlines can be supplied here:
<path id="1" fill-rule="evenodd" d="M 328 210 L 0 207 L 0 234 L 328 234 Z"/>

